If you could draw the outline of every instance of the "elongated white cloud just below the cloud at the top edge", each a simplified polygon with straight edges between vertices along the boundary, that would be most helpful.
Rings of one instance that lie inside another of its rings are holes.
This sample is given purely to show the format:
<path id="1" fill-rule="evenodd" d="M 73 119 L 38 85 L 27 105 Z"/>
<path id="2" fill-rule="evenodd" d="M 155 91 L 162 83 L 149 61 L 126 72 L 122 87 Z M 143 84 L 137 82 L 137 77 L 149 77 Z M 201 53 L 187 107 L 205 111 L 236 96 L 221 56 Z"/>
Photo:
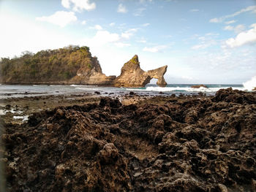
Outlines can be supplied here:
<path id="1" fill-rule="evenodd" d="M 67 24 L 78 20 L 78 18 L 75 16 L 74 12 L 58 11 L 50 16 L 42 16 L 40 18 L 36 18 L 36 20 L 46 21 L 48 23 L 53 23 L 55 25 L 64 27 L 67 26 Z"/>

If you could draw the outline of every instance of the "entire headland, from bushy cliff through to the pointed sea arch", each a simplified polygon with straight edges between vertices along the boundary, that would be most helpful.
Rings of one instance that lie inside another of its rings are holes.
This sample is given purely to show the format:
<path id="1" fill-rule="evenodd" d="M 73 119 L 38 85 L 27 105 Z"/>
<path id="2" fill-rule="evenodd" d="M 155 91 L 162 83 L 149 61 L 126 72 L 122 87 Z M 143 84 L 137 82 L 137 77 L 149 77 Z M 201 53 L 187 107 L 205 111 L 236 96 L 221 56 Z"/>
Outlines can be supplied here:
<path id="1" fill-rule="evenodd" d="M 144 72 L 135 55 L 121 69 L 121 74 L 106 76 L 97 57 L 92 57 L 89 47 L 69 47 L 58 50 L 24 52 L 19 58 L 1 58 L 0 82 L 5 84 L 80 84 L 116 87 L 145 87 L 152 78 L 157 85 L 167 83 L 163 75 L 167 66 Z"/>

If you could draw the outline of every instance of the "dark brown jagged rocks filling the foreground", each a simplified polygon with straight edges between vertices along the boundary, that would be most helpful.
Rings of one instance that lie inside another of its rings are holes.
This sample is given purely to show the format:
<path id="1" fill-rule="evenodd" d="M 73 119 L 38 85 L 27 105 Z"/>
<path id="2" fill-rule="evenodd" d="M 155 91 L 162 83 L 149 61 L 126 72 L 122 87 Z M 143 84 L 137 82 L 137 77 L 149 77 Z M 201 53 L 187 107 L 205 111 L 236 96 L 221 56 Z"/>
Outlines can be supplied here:
<path id="1" fill-rule="evenodd" d="M 96 98 L 1 122 L 7 191 L 256 190 L 255 92 Z"/>

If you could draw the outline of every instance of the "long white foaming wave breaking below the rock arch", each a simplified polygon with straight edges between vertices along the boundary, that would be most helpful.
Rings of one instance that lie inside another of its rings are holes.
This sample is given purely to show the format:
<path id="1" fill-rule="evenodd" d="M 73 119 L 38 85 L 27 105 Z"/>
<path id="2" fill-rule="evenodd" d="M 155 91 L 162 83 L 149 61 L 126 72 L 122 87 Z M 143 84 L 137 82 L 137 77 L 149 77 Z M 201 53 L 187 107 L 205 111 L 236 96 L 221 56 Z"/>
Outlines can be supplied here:
<path id="1" fill-rule="evenodd" d="M 219 87 L 219 88 L 181 88 L 181 87 L 165 87 L 165 88 L 161 88 L 161 87 L 147 87 L 146 89 L 140 89 L 140 88 L 127 88 L 127 90 L 129 91 L 156 91 L 156 92 L 171 92 L 171 91 L 178 91 L 178 92 L 183 92 L 183 91 L 187 91 L 187 92 L 217 92 L 219 91 L 219 89 L 222 88 L 229 88 L 229 87 Z M 245 89 L 243 87 L 241 88 L 237 88 L 237 87 L 233 87 L 233 89 L 238 89 L 241 91 L 244 91 Z"/>

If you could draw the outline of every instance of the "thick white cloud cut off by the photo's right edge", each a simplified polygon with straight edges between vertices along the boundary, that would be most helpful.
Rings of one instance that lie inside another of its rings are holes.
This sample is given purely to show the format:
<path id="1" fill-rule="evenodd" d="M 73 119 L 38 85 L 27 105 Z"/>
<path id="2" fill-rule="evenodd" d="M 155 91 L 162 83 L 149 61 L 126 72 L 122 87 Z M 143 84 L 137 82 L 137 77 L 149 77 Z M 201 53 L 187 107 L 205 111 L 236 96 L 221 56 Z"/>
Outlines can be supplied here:
<path id="1" fill-rule="evenodd" d="M 235 38 L 227 39 L 226 45 L 233 48 L 256 43 L 256 23 L 252 24 L 251 27 L 248 31 L 239 33 Z"/>

